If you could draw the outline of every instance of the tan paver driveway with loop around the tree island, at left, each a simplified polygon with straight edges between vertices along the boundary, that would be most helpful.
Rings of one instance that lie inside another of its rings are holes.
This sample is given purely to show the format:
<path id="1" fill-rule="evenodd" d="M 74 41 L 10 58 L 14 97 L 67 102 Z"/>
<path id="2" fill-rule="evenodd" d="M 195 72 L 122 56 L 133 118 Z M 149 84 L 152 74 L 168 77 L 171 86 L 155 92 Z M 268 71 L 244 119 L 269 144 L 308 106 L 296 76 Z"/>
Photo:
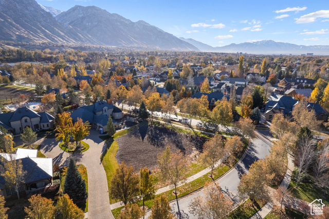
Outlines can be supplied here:
<path id="1" fill-rule="evenodd" d="M 41 152 L 46 157 L 51 157 L 53 164 L 58 164 L 60 167 L 66 166 L 71 156 L 77 163 L 82 163 L 88 172 L 88 218 L 114 219 L 109 205 L 106 174 L 100 161 L 100 156 L 106 146 L 98 136 L 99 133 L 96 130 L 90 130 L 90 135 L 83 139 L 89 144 L 89 149 L 82 154 L 64 152 L 54 138 L 38 138 L 35 143 L 41 144 Z M 15 138 L 15 142 L 19 143 L 19 141 L 20 138 Z"/>

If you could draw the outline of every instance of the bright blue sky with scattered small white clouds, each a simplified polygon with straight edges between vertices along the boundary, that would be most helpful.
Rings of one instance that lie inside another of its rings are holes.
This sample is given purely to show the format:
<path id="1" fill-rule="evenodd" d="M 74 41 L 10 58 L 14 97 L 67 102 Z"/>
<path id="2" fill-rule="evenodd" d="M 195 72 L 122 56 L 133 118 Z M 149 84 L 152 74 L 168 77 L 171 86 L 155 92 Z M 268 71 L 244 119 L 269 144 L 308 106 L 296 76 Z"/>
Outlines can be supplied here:
<path id="1" fill-rule="evenodd" d="M 36 0 L 66 11 L 97 6 L 133 22 L 143 20 L 177 37 L 211 46 L 274 40 L 329 45 L 329 1 Z"/>

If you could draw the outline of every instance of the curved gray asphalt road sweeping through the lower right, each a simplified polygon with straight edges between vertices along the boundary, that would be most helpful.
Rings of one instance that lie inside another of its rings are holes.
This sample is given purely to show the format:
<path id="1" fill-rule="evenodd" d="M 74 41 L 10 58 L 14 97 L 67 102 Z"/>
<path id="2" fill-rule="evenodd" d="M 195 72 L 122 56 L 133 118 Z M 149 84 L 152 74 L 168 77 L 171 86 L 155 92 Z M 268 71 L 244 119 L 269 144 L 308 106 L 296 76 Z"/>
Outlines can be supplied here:
<path id="1" fill-rule="evenodd" d="M 269 149 L 271 146 L 272 136 L 269 131 L 258 131 L 258 137 L 250 143 L 250 147 L 246 153 L 246 156 L 239 162 L 234 169 L 232 169 L 224 177 L 216 180 L 219 183 L 222 190 L 226 192 L 236 203 L 239 203 L 239 198 L 237 197 L 237 185 L 239 184 L 240 177 L 242 174 L 248 173 L 249 166 L 259 159 L 265 158 L 269 154 Z M 188 205 L 191 200 L 198 195 L 203 195 L 203 189 L 195 192 L 186 197 L 179 199 L 179 208 L 188 214 L 189 218 L 197 218 L 189 212 Z M 177 210 L 176 201 L 172 202 L 171 207 Z M 150 212 L 148 213 L 148 216 Z"/>

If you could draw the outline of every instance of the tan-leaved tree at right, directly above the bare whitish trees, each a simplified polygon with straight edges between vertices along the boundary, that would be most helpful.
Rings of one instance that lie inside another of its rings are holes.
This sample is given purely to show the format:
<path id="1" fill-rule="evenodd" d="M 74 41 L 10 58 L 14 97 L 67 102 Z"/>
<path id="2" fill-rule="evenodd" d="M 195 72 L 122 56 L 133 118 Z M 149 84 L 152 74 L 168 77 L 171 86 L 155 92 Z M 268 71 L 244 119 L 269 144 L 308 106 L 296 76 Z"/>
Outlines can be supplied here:
<path id="1" fill-rule="evenodd" d="M 318 130 L 322 121 L 317 120 L 314 109 L 308 111 L 307 103 L 300 101 L 294 106 L 293 117 L 300 127 L 308 127 L 310 130 Z"/>

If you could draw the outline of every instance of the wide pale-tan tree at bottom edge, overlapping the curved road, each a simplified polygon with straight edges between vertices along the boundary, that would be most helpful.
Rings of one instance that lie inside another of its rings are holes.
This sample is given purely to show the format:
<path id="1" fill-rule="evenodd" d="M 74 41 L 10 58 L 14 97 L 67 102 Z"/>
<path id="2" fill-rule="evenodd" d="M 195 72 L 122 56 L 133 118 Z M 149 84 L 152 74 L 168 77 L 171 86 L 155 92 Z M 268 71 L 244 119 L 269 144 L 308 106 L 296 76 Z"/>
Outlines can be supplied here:
<path id="1" fill-rule="evenodd" d="M 218 185 L 206 182 L 204 194 L 195 197 L 189 204 L 190 212 L 199 219 L 226 218 L 233 210 L 233 202 Z"/>

